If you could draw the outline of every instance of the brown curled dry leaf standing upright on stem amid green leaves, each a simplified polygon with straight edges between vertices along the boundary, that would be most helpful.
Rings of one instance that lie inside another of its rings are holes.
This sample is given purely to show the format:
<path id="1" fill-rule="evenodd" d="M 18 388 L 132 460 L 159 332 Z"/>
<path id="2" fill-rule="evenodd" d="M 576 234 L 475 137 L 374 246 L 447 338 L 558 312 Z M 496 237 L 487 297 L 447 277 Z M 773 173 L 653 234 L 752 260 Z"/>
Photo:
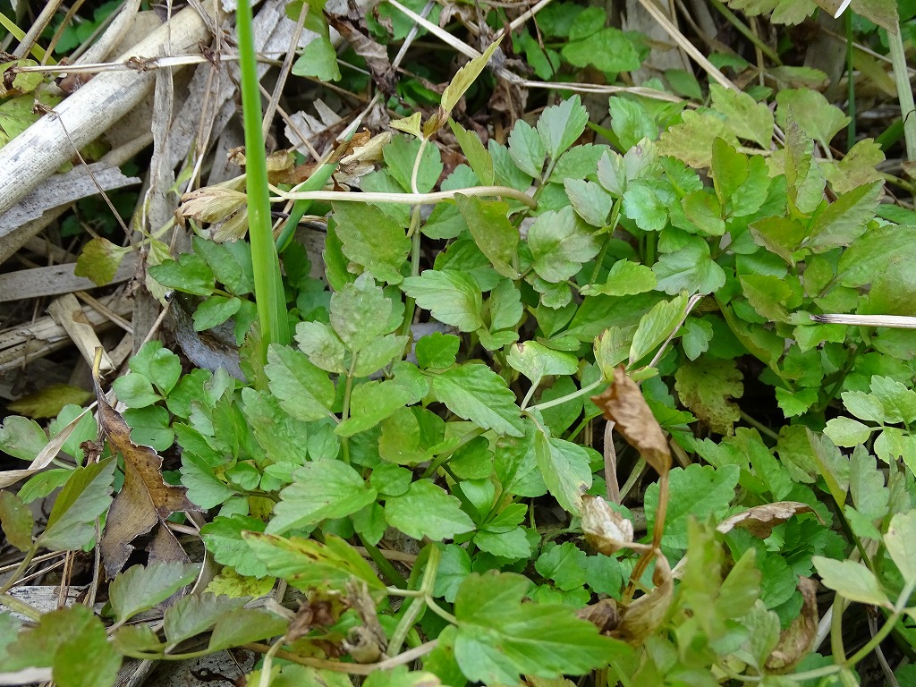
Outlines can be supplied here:
<path id="1" fill-rule="evenodd" d="M 618 367 L 614 381 L 598 396 L 594 404 L 602 409 L 607 420 L 616 422 L 616 430 L 632 445 L 658 474 L 671 469 L 671 450 L 661 427 L 642 392 L 624 368 Z"/>

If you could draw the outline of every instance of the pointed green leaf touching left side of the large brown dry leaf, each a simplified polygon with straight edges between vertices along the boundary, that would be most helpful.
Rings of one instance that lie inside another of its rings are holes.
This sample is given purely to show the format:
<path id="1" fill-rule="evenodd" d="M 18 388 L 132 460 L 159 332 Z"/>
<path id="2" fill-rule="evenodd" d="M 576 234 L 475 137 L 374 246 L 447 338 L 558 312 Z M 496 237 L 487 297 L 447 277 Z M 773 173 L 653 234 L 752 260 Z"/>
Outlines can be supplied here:
<path id="1" fill-rule="evenodd" d="M 54 500 L 37 543 L 51 551 L 80 551 L 95 539 L 95 519 L 112 502 L 114 458 L 76 468 Z"/>

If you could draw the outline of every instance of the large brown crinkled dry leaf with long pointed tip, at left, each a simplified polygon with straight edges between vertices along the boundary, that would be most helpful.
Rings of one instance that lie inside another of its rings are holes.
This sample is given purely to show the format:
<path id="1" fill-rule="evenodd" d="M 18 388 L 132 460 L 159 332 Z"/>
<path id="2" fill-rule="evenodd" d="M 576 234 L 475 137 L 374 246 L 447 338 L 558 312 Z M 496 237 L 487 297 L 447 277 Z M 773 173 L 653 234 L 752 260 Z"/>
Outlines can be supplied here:
<path id="1" fill-rule="evenodd" d="M 101 543 L 105 574 L 110 579 L 127 562 L 134 550 L 133 540 L 176 511 L 200 508 L 188 500 L 183 486 L 162 481 L 162 458 L 158 453 L 131 441 L 130 427 L 108 404 L 96 373 L 93 372 L 93 382 L 99 402 L 99 426 L 112 448 L 124 456 L 124 486 L 108 511 Z"/>

